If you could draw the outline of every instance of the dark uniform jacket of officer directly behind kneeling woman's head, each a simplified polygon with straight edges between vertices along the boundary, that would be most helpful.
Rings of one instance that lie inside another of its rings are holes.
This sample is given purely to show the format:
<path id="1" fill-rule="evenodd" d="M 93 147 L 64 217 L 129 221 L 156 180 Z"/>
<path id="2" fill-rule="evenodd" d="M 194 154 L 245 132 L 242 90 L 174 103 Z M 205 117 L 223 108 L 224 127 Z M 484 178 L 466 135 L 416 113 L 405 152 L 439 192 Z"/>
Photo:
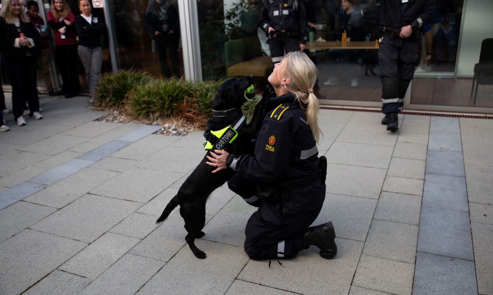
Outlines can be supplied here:
<path id="1" fill-rule="evenodd" d="M 260 27 L 299 34 L 298 43 L 307 43 L 307 16 L 303 0 L 262 0 Z"/>

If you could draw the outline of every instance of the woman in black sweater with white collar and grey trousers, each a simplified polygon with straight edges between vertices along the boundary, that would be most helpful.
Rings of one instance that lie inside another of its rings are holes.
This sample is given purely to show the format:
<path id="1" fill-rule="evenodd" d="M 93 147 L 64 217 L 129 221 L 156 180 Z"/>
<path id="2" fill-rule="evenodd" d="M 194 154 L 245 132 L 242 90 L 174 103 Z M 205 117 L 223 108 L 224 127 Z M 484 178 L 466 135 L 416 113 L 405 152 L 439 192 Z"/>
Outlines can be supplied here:
<path id="1" fill-rule="evenodd" d="M 82 14 L 77 15 L 74 21 L 75 32 L 79 36 L 77 52 L 84 66 L 89 93 L 92 96 L 101 74 L 103 62 L 101 35 L 105 34 L 106 25 L 103 18 L 91 13 L 89 0 L 79 0 L 79 9 Z"/>

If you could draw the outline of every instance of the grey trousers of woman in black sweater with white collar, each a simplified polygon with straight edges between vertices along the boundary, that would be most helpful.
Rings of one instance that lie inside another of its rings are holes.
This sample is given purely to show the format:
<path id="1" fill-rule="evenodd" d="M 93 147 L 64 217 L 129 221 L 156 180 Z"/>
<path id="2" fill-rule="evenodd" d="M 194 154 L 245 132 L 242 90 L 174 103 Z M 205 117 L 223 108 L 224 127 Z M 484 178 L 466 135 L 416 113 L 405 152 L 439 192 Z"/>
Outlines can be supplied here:
<path id="1" fill-rule="evenodd" d="M 79 54 L 82 65 L 86 72 L 87 84 L 89 85 L 89 93 L 94 93 L 94 88 L 96 87 L 96 82 L 99 80 L 101 74 L 101 64 L 102 64 L 102 49 L 99 47 L 86 47 L 79 45 L 77 47 L 77 53 Z"/>

